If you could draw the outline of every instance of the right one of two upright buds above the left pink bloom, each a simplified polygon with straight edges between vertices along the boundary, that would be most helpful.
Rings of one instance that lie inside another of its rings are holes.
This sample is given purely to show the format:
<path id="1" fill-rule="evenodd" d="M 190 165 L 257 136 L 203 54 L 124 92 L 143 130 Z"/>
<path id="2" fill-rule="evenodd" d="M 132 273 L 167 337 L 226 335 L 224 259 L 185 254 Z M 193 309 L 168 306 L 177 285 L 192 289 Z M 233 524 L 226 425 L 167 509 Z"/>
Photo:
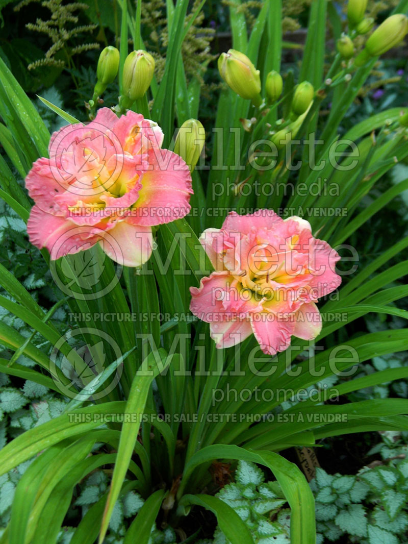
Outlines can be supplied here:
<path id="1" fill-rule="evenodd" d="M 139 49 L 129 53 L 123 66 L 123 96 L 134 102 L 145 95 L 153 79 L 154 59 Z"/>

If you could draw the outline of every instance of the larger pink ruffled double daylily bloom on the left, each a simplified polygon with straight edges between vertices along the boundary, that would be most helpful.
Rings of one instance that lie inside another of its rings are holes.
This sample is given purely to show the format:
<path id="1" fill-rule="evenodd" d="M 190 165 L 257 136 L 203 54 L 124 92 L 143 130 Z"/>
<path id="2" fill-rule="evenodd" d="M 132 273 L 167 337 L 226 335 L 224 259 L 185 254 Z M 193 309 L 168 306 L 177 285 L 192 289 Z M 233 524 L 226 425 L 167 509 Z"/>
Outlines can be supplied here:
<path id="1" fill-rule="evenodd" d="M 120 264 L 146 262 L 152 226 L 187 215 L 193 193 L 188 166 L 162 143 L 153 121 L 131 111 L 118 118 L 109 108 L 55 132 L 50 158 L 36 160 L 26 178 L 35 201 L 30 242 L 53 260 L 100 243 Z"/>

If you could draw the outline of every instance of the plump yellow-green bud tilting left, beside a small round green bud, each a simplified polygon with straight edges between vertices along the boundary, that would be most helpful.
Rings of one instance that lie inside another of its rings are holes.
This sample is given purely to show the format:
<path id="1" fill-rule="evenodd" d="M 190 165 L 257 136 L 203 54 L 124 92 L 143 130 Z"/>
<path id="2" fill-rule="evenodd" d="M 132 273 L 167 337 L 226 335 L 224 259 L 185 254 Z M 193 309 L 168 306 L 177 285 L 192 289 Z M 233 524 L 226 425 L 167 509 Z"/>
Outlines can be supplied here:
<path id="1" fill-rule="evenodd" d="M 259 70 L 246 55 L 234 49 L 230 49 L 228 53 L 221 53 L 218 58 L 218 70 L 222 79 L 237 95 L 252 100 L 255 106 L 261 105 Z"/>

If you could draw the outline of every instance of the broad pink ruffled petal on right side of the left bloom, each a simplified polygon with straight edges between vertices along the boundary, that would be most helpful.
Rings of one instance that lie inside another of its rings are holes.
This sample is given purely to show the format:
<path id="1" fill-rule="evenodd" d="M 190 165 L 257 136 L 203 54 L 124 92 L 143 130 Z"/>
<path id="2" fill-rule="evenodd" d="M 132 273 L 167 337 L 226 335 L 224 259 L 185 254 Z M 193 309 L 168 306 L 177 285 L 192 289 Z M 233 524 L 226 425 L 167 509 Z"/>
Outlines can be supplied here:
<path id="1" fill-rule="evenodd" d="M 139 199 L 132 209 L 134 222 L 153 226 L 181 219 L 190 211 L 191 175 L 184 160 L 162 149 L 150 154 L 151 170 L 141 176 Z"/>

